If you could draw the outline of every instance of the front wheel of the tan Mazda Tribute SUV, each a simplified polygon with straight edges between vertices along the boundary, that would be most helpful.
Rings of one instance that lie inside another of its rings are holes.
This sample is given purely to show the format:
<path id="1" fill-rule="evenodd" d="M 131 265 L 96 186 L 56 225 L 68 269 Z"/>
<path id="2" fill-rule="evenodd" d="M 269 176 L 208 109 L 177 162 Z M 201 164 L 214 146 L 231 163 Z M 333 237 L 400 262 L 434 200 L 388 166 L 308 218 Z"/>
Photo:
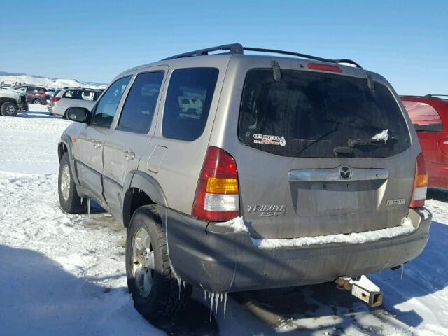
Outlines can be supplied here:
<path id="1" fill-rule="evenodd" d="M 82 214 L 87 209 L 87 202 L 81 204 L 81 199 L 78 196 L 76 185 L 73 181 L 73 173 L 71 172 L 69 160 L 69 153 L 64 153 L 61 162 L 59 162 L 59 176 L 57 179 L 59 204 L 62 210 L 69 214 Z"/>

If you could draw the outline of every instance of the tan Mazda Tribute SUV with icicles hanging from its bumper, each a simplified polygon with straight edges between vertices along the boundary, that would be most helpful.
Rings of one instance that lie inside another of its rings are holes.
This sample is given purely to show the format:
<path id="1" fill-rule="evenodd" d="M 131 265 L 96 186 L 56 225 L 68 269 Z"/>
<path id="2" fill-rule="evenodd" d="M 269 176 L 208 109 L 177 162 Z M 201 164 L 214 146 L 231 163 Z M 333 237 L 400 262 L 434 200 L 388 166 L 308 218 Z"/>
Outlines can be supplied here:
<path id="1" fill-rule="evenodd" d="M 125 71 L 92 111 L 67 111 L 80 123 L 59 143 L 59 203 L 76 214 L 93 198 L 125 225 L 146 318 L 175 314 L 192 286 L 218 304 L 421 253 L 431 215 L 414 127 L 384 77 L 340 62 L 196 50 Z"/>

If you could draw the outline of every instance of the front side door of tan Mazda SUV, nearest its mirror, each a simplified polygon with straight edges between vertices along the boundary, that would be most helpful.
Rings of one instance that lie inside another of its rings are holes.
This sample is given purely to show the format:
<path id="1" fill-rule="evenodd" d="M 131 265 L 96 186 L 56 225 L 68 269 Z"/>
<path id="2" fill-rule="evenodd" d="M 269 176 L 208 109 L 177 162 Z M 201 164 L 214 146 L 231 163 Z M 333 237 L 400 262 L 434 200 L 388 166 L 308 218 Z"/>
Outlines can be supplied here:
<path id="1" fill-rule="evenodd" d="M 80 183 L 103 204 L 105 203 L 102 184 L 104 141 L 130 79 L 131 76 L 126 76 L 109 86 L 94 107 L 90 124 L 85 125 L 80 131 L 76 141 L 76 168 Z"/>

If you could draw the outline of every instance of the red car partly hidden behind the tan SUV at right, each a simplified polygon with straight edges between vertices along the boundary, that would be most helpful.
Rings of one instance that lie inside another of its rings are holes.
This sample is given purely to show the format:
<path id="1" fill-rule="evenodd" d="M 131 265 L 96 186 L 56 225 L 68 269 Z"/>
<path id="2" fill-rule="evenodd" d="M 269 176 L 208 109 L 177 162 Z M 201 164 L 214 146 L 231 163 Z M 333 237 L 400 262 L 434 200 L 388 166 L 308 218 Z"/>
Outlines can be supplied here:
<path id="1" fill-rule="evenodd" d="M 448 96 L 402 96 L 426 158 L 428 187 L 448 189 Z"/>

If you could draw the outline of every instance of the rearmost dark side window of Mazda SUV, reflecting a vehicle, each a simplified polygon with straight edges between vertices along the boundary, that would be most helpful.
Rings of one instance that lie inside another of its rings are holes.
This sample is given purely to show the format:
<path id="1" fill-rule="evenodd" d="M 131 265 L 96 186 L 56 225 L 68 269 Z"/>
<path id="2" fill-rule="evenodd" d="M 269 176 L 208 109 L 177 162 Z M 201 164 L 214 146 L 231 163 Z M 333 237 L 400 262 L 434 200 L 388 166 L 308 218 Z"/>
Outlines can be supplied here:
<path id="1" fill-rule="evenodd" d="M 174 70 L 169 80 L 162 134 L 192 141 L 204 132 L 218 79 L 216 68 Z"/>

